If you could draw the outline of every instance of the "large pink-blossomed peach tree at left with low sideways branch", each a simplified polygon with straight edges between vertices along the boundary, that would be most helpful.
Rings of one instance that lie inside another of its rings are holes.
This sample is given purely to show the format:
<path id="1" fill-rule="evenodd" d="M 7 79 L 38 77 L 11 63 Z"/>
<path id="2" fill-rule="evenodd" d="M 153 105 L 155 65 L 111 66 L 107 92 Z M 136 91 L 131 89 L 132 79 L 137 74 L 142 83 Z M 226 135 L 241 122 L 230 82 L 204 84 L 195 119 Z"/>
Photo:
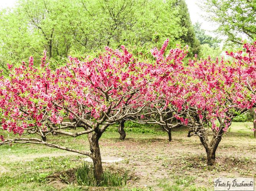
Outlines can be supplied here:
<path id="1" fill-rule="evenodd" d="M 0 145 L 34 143 L 87 155 L 100 181 L 99 138 L 109 125 L 136 114 L 132 108 L 137 107 L 139 94 L 147 87 L 147 68 L 135 62 L 123 46 L 122 51 L 106 47 L 97 58 L 79 61 L 69 57 L 69 61 L 51 70 L 45 53 L 40 67 L 33 66 L 32 57 L 28 64 L 8 65 L 10 76 L 0 80 L 2 129 L 20 137 L 1 136 Z M 65 117 L 72 122 L 64 121 Z M 26 138 L 31 134 L 35 136 Z M 46 139 L 49 134 L 88 134 L 91 152 L 53 144 Z"/>

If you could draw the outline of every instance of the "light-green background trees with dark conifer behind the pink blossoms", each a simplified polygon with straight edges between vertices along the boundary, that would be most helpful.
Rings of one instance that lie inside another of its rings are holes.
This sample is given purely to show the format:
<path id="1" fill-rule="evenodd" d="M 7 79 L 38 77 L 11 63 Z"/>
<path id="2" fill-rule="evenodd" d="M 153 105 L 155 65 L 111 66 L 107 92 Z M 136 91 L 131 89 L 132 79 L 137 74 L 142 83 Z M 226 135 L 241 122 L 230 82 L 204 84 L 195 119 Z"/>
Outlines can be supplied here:
<path id="1" fill-rule="evenodd" d="M 6 63 L 31 55 L 39 64 L 43 50 L 55 67 L 68 55 L 105 46 L 123 44 L 145 55 L 167 38 L 172 47 L 188 44 L 192 56 L 200 49 L 185 0 L 18 0 L 0 12 L 0 28 L 0 64 L 6 69 Z"/>

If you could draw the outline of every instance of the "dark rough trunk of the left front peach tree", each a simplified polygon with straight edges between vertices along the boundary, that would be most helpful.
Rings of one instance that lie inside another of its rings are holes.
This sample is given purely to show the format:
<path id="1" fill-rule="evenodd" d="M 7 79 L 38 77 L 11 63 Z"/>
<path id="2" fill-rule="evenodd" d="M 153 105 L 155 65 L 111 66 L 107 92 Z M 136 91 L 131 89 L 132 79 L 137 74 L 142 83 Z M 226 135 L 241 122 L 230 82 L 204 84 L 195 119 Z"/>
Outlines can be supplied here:
<path id="1" fill-rule="evenodd" d="M 98 133 L 89 133 L 88 140 L 90 143 L 90 150 L 92 153 L 92 161 L 94 166 L 94 177 L 99 184 L 102 180 L 103 168 L 101 162 L 101 152 L 99 149 L 99 138 L 101 134 Z"/>

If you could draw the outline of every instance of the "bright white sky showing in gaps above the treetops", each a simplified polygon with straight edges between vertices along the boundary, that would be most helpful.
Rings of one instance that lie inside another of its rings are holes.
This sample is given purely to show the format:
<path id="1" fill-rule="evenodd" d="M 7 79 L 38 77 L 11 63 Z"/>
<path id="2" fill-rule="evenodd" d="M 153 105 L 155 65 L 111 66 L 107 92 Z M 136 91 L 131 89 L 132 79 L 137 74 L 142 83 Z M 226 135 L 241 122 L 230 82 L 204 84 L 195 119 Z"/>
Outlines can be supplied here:
<path id="1" fill-rule="evenodd" d="M 206 33 L 211 34 L 212 36 L 215 36 L 213 34 L 213 30 L 217 28 L 216 24 L 210 23 L 209 21 L 205 21 L 203 18 L 203 15 L 205 14 L 197 5 L 200 0 L 185 0 L 188 5 L 188 11 L 190 13 L 190 18 L 192 23 L 195 23 L 199 21 L 202 25 L 201 27 L 206 30 Z M 2 8 L 12 7 L 14 6 L 16 0 L 0 0 L 0 10 Z"/>

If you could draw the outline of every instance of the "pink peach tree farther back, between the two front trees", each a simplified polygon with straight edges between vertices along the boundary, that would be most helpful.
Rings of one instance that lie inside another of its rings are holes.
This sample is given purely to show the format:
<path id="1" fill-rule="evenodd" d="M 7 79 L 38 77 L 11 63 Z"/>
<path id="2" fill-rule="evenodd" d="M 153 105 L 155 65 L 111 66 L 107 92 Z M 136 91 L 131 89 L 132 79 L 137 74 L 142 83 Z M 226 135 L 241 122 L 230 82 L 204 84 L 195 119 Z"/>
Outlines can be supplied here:
<path id="1" fill-rule="evenodd" d="M 167 45 L 168 39 L 160 50 L 157 48 L 151 50 L 155 60 L 148 65 L 150 65 L 149 74 L 154 80 L 149 82 L 147 92 L 141 95 L 148 104 L 139 115 L 134 115 L 128 120 L 140 124 L 157 124 L 168 133 L 168 140 L 172 141 L 171 129 L 183 126 L 183 124 L 178 123 L 172 108 L 168 105 L 172 102 L 173 104 L 180 103 L 178 99 L 186 91 L 183 59 L 187 55 L 187 47 L 171 49 L 167 55 L 164 55 Z"/>

